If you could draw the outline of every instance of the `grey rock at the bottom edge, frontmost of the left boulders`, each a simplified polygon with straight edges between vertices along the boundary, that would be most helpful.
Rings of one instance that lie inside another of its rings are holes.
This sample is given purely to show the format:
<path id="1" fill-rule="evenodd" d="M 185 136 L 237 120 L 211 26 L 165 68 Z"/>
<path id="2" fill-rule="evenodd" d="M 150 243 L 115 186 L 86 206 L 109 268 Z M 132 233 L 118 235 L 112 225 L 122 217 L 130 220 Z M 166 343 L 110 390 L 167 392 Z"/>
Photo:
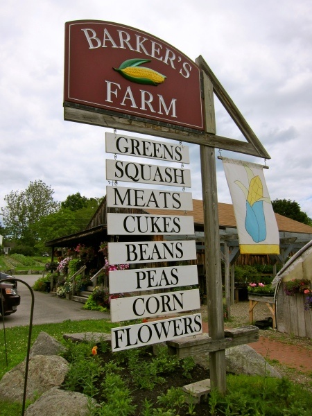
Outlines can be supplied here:
<path id="1" fill-rule="evenodd" d="M 93 404 L 96 401 L 92 399 Z M 89 398 L 78 392 L 67 392 L 57 387 L 45 392 L 31 404 L 25 416 L 87 416 Z"/>

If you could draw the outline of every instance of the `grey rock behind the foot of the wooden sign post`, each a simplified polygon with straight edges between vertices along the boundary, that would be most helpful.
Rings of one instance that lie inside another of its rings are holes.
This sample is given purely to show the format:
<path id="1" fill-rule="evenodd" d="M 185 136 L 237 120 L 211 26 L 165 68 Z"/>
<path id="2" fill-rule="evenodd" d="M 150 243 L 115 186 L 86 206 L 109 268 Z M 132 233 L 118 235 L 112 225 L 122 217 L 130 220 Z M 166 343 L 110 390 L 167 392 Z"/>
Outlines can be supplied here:
<path id="1" fill-rule="evenodd" d="M 202 367 L 209 368 L 209 354 L 202 354 L 194 359 Z M 227 372 L 234 374 L 249 374 L 251 376 L 266 374 L 270 377 L 281 378 L 279 372 L 249 345 L 237 345 L 225 349 L 225 363 Z"/>

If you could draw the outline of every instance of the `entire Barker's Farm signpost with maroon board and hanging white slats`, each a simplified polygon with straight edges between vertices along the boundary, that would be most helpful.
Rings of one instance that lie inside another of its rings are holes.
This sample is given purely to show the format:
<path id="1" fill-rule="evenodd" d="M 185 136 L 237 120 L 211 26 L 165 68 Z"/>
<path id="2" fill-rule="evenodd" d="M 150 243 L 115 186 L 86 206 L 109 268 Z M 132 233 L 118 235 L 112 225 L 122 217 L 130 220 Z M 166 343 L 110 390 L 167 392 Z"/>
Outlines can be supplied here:
<path id="1" fill-rule="evenodd" d="M 138 163 L 128 159 L 107 160 L 107 179 L 132 184 L 157 185 L 157 190 L 132 186 L 124 189 L 107 187 L 107 206 L 190 209 L 190 195 L 171 190 L 165 191 L 162 187 L 191 187 L 190 171 L 184 169 L 184 166 L 173 167 L 172 164 L 173 162 L 188 163 L 188 156 L 181 141 L 200 145 L 205 266 L 209 294 L 207 304 L 209 336 L 214 344 L 220 344 L 209 349 L 210 378 L 211 386 L 218 388 L 220 392 L 225 392 L 225 345 L 228 343 L 224 342 L 215 148 L 266 159 L 270 159 L 270 155 L 205 60 L 200 56 L 195 63 L 173 46 L 153 35 L 107 21 L 67 22 L 64 67 L 65 120 L 164 137 L 179 142 L 168 145 L 167 142 L 165 144 L 115 133 L 109 135 L 107 152 L 127 157 L 161 159 L 162 162 L 169 162 L 170 166 Z M 246 141 L 216 135 L 214 94 L 239 127 Z M 112 218 L 110 217 L 109 227 L 110 232 L 114 233 Z M 144 229 L 148 230 L 150 235 L 153 235 L 157 227 L 163 231 L 158 234 L 165 235 L 169 229 L 171 232 L 177 231 L 178 227 L 173 226 L 174 222 L 179 223 L 181 227 L 189 227 L 187 220 L 181 220 L 179 216 L 166 218 L 154 216 L 153 220 L 148 220 L 150 223 L 147 223 L 143 216 L 140 220 L 134 219 L 135 216 L 132 218 L 128 216 L 128 220 L 125 216 L 121 218 L 123 225 L 119 225 L 118 230 L 120 231 L 120 227 L 124 230 L 127 228 L 128 231 L 125 230 L 124 234 L 132 234 L 134 229 L 138 232 L 141 225 L 145 225 Z M 139 223 L 140 221 L 143 223 Z M 161 223 L 162 226 L 159 225 Z M 148 232 L 138 235 L 145 235 Z M 157 261 L 187 259 L 196 259 L 194 241 L 109 243 L 110 263 L 157 263 Z M 132 287 L 133 291 L 139 290 L 139 286 L 143 288 L 144 285 L 146 285 L 145 289 L 149 290 L 156 282 L 159 288 L 171 285 L 174 287 L 175 278 L 179 284 L 185 282 L 184 272 L 180 266 L 171 269 L 159 268 L 159 270 L 149 268 L 145 270 L 145 275 L 139 274 L 138 270 L 141 269 L 136 270 L 122 271 L 125 279 L 130 277 L 127 288 Z M 110 275 L 110 280 L 115 276 L 117 275 Z M 120 275 L 117 279 L 120 279 Z M 116 287 L 112 284 L 110 290 L 116 291 L 119 283 L 116 283 Z M 130 306 L 127 304 L 129 311 L 137 311 L 134 302 L 141 302 L 140 306 L 142 306 L 142 297 L 137 299 L 137 301 L 127 300 L 132 302 Z M 172 305 L 173 301 L 172 296 L 161 297 L 159 300 L 152 295 L 147 299 L 151 299 L 151 305 L 154 306 L 158 304 L 157 302 L 159 305 L 162 304 L 164 300 L 168 300 L 167 305 Z M 179 303 L 177 299 L 175 305 Z M 182 299 L 184 300 L 184 295 L 180 297 L 181 309 L 184 310 Z M 119 308 L 116 308 L 116 313 L 117 309 Z M 156 309 L 156 307 L 152 308 L 152 312 Z M 142 322 L 113 329 L 112 345 L 114 350 L 128 349 L 168 339 L 194 336 L 201 331 L 200 314 Z"/>

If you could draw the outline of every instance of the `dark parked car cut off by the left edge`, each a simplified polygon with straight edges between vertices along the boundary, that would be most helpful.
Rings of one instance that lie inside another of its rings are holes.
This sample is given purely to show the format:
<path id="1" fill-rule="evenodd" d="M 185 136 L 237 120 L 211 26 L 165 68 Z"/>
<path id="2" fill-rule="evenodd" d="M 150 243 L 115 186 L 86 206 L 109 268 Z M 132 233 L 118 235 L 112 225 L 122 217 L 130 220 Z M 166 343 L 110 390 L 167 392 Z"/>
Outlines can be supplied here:
<path id="1" fill-rule="evenodd" d="M 10 315 L 17 311 L 21 297 L 17 293 L 17 281 L 6 280 L 12 276 L 0 273 L 0 314 Z M 2 311 L 3 308 L 3 311 Z"/>

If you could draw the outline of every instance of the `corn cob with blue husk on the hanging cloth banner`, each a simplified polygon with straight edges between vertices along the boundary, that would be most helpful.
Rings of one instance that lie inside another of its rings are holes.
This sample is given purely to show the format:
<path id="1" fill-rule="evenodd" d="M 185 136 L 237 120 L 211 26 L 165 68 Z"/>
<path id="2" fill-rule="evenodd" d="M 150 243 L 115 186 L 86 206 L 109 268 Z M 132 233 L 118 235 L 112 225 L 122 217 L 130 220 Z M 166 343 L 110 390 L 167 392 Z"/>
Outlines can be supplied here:
<path id="1" fill-rule="evenodd" d="M 263 184 L 259 175 L 249 166 L 243 165 L 248 175 L 248 189 L 239 180 L 234 183 L 243 191 L 246 198 L 245 229 L 255 243 L 266 239 L 266 218 L 264 216 L 263 202 L 271 203 L 270 198 L 263 196 Z"/>

